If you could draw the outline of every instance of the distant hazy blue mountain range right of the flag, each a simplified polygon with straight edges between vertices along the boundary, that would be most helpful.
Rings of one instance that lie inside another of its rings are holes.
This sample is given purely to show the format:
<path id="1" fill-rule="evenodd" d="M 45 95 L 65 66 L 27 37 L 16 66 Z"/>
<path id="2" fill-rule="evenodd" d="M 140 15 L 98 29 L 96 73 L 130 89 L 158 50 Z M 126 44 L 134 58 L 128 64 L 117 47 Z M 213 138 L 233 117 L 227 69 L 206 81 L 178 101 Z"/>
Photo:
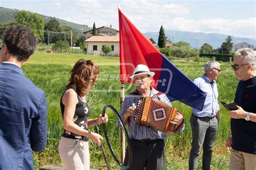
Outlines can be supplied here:
<path id="1" fill-rule="evenodd" d="M 158 42 L 159 32 L 146 32 L 144 33 L 146 37 L 151 37 L 155 42 Z M 203 44 L 208 43 L 212 45 L 213 49 L 217 49 L 225 41 L 228 35 L 220 33 L 204 33 L 204 32 L 187 32 L 187 31 L 173 31 L 165 30 L 165 36 L 174 43 L 179 41 L 185 41 L 190 43 L 194 48 L 200 48 Z M 239 44 L 246 42 L 256 46 L 256 39 L 242 38 L 242 37 L 232 37 L 232 42 L 234 44 Z"/>

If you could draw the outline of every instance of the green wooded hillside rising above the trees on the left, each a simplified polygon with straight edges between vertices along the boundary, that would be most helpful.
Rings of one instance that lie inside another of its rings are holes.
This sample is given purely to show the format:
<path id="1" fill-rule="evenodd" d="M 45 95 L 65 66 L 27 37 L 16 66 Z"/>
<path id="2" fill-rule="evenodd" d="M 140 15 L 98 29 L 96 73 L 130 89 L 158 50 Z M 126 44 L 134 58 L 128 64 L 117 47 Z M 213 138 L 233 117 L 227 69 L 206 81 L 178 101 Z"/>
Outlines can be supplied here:
<path id="1" fill-rule="evenodd" d="M 0 23 L 14 22 L 15 21 L 14 15 L 15 15 L 15 12 L 17 11 L 18 11 L 17 9 L 3 8 L 0 6 Z M 50 19 L 55 18 L 55 17 L 45 16 L 45 15 L 41 15 L 41 16 L 44 18 L 45 23 L 48 22 Z M 58 20 L 60 26 L 70 26 L 71 28 L 76 30 L 78 32 L 78 35 L 82 35 L 84 31 L 92 29 L 87 25 L 76 24 L 76 23 L 68 22 L 58 18 L 55 18 L 55 19 Z"/>

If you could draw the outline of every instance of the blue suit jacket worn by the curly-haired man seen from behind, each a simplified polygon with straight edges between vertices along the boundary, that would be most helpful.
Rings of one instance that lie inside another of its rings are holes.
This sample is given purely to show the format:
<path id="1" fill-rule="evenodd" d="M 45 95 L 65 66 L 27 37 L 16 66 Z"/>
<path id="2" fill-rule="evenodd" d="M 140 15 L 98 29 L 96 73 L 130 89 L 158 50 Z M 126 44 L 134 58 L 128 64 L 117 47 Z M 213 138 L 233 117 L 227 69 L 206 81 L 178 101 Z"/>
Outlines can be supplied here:
<path id="1" fill-rule="evenodd" d="M 0 64 L 0 169 L 33 169 L 47 141 L 45 93 L 20 67 Z"/>

